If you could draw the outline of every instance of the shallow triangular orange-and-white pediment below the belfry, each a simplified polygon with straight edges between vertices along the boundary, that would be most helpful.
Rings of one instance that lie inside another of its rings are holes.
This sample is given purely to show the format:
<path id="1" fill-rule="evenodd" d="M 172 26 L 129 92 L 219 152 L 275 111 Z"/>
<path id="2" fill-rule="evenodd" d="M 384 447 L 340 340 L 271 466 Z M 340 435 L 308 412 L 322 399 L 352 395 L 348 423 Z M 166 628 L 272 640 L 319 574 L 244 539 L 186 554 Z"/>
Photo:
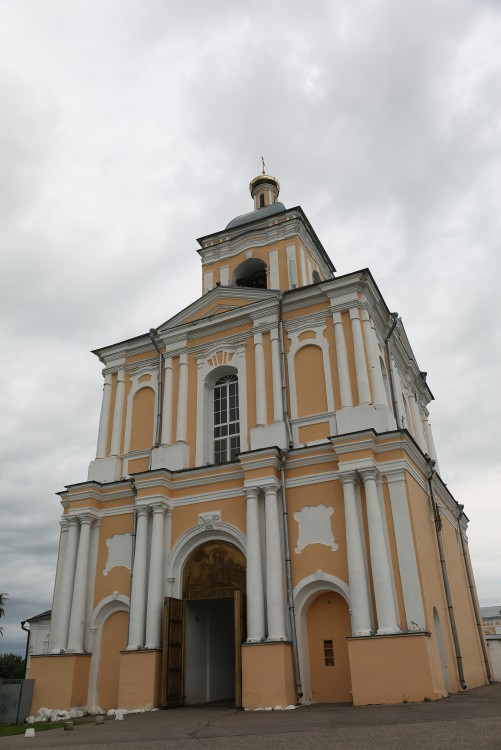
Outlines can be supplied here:
<path id="1" fill-rule="evenodd" d="M 167 320 L 159 326 L 158 331 L 160 333 L 168 328 L 183 325 L 183 323 L 192 323 L 195 320 L 238 310 L 273 297 L 276 297 L 276 292 L 270 289 L 218 286 Z"/>

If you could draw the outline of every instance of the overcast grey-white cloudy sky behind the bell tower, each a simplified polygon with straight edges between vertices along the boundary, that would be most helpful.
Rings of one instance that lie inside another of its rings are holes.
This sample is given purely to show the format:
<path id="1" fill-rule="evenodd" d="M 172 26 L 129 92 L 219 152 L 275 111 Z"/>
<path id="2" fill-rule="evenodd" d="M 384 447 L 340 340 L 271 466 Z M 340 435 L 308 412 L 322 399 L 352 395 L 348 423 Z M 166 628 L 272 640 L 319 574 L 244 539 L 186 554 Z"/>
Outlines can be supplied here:
<path id="1" fill-rule="evenodd" d="M 0 0 L 0 651 L 51 606 L 89 350 L 200 295 L 195 238 L 251 210 L 261 155 L 402 316 L 501 605 L 500 39 L 494 0 Z"/>

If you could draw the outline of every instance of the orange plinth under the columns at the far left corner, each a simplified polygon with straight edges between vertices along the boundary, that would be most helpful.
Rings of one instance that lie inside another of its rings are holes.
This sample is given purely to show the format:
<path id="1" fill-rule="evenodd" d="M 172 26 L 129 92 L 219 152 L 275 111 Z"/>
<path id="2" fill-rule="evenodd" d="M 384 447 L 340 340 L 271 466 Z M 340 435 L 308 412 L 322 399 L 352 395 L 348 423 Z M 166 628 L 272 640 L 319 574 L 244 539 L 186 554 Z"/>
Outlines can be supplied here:
<path id="1" fill-rule="evenodd" d="M 35 680 L 31 713 L 39 708 L 68 710 L 87 703 L 90 654 L 32 656 L 30 679 Z"/>

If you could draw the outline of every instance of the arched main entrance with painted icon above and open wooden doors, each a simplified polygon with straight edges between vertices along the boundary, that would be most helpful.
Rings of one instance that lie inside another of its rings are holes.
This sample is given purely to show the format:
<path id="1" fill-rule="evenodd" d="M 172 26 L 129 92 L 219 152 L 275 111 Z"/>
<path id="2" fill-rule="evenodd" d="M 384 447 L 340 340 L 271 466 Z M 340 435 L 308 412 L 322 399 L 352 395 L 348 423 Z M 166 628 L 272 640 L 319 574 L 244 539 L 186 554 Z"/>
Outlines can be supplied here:
<path id="1" fill-rule="evenodd" d="M 165 603 L 165 707 L 241 705 L 245 576 L 245 557 L 228 542 L 206 542 L 186 560 L 183 599 Z"/>

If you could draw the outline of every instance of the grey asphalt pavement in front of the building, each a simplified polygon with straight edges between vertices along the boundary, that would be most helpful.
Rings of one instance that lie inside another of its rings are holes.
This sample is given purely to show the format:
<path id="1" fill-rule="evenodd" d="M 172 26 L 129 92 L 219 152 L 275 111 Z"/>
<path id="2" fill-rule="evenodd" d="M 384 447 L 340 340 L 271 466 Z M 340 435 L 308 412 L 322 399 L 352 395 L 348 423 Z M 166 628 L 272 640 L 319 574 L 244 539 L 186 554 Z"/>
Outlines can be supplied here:
<path id="1" fill-rule="evenodd" d="M 440 701 L 289 711 L 175 708 L 0 738 L 0 750 L 501 750 L 501 683 Z"/>

